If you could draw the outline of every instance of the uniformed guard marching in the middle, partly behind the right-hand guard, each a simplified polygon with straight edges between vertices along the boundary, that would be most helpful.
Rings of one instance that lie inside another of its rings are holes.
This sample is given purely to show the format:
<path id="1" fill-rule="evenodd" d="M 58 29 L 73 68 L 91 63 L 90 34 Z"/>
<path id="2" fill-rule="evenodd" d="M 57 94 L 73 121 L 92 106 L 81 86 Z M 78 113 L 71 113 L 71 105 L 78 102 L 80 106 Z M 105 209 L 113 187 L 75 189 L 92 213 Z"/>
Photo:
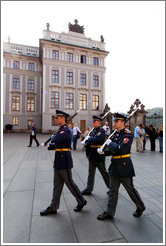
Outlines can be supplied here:
<path id="1" fill-rule="evenodd" d="M 105 131 L 101 126 L 101 118 L 93 116 L 94 130 L 91 132 L 91 136 L 86 140 L 87 157 L 89 160 L 89 174 L 87 180 L 87 187 L 82 191 L 83 195 L 90 195 L 93 191 L 96 167 L 101 173 L 106 186 L 109 188 L 109 174 L 105 168 L 105 156 L 101 156 L 97 153 L 97 148 L 105 141 Z"/>

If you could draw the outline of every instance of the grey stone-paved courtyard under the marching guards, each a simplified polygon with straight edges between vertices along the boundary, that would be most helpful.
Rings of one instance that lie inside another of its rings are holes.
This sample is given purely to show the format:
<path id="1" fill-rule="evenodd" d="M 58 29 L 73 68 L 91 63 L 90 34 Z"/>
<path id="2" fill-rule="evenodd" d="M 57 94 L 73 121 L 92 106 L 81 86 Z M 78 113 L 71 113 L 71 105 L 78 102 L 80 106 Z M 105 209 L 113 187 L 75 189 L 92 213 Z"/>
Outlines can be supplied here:
<path id="1" fill-rule="evenodd" d="M 39 142 L 49 136 L 38 134 Z M 133 217 L 135 205 L 123 187 L 120 188 L 115 217 L 98 221 L 97 215 L 106 208 L 107 188 L 97 171 L 93 195 L 86 196 L 87 205 L 75 213 L 76 201 L 64 187 L 60 209 L 56 215 L 40 216 L 52 198 L 54 151 L 44 147 L 28 148 L 29 135 L 3 135 L 3 243 L 159 243 L 163 242 L 163 154 L 150 151 L 137 153 L 135 142 L 131 157 L 138 189 L 146 210 L 140 218 Z M 88 161 L 80 141 L 72 151 L 73 179 L 80 190 L 86 186 Z M 107 168 L 110 157 L 106 159 Z"/>

